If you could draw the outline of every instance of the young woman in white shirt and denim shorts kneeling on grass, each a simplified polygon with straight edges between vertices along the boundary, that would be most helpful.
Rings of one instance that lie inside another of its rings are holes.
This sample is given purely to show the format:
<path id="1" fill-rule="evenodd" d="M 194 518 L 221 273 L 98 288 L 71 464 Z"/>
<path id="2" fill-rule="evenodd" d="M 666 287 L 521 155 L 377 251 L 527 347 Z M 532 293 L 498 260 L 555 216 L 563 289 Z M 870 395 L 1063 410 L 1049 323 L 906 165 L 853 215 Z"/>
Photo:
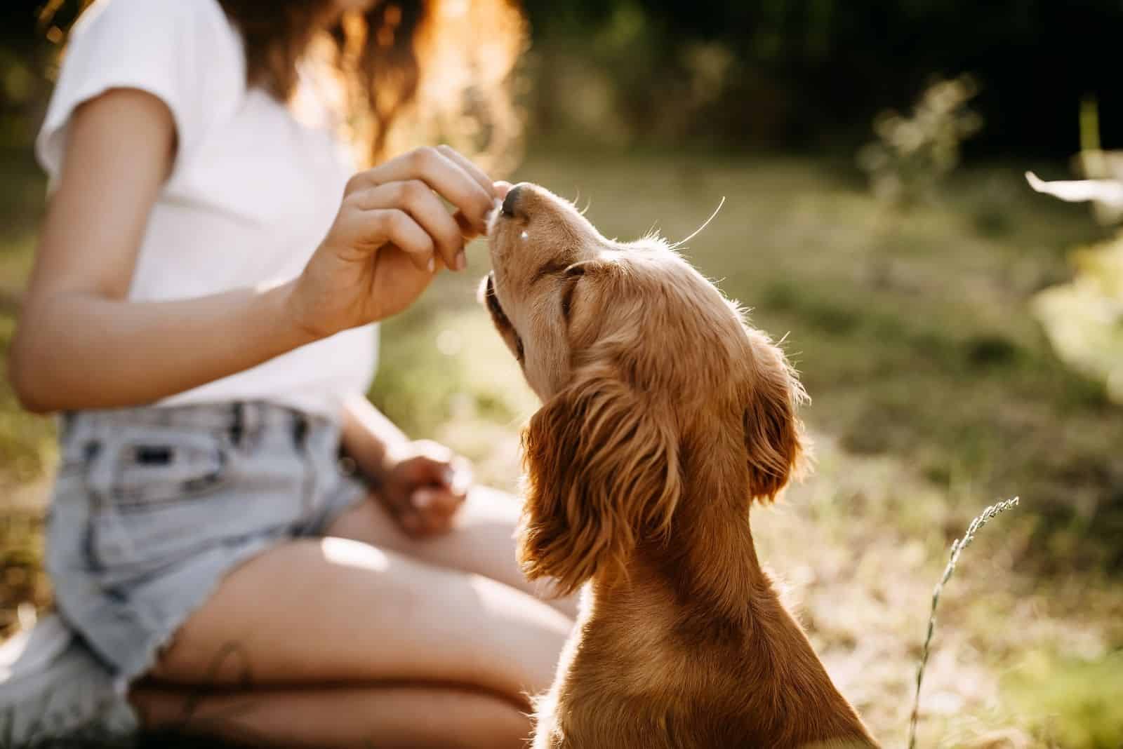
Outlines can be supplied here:
<path id="1" fill-rule="evenodd" d="M 451 148 L 389 151 L 465 105 L 497 132 L 520 28 L 503 0 L 79 20 L 11 351 L 26 407 L 63 414 L 60 617 L 0 683 L 17 741 L 522 746 L 573 603 L 519 574 L 511 498 L 363 395 L 373 324 L 463 270 L 505 192 Z"/>

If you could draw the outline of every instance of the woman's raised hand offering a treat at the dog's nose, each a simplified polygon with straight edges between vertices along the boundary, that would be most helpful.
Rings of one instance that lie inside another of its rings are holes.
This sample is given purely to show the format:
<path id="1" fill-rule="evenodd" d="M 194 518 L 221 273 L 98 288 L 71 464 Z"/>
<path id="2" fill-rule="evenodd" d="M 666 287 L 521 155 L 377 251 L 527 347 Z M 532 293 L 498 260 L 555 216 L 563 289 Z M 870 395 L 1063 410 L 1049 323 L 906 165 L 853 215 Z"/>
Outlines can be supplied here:
<path id="1" fill-rule="evenodd" d="M 293 322 L 326 337 L 401 312 L 437 269 L 465 268 L 465 241 L 485 231 L 495 198 L 492 181 L 448 146 L 419 148 L 355 175 L 292 286 Z"/>

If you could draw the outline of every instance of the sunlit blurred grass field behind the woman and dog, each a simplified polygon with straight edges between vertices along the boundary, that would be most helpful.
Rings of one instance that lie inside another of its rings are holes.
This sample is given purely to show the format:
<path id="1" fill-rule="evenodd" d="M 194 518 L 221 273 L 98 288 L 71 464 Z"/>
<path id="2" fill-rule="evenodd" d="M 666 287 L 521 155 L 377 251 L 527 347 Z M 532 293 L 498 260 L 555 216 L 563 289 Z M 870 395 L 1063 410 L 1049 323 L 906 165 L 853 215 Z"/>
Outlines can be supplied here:
<path id="1" fill-rule="evenodd" d="M 43 192 L 30 165 L 7 161 L 2 345 Z M 904 737 L 948 544 L 1013 494 L 1021 507 L 983 531 L 944 592 L 920 746 L 1123 746 L 1123 413 L 1058 362 L 1026 307 L 1098 231 L 1030 193 L 1022 168 L 965 170 L 907 213 L 849 168 L 805 158 L 570 150 L 517 175 L 579 194 L 610 237 L 685 237 L 725 196 L 685 252 L 755 324 L 787 335 L 819 455 L 812 478 L 754 514 L 760 553 L 886 746 Z M 373 397 L 510 488 L 536 404 L 475 303 L 476 250 L 467 274 L 384 326 Z M 16 603 L 49 601 L 38 528 L 52 434 L 0 383 L 0 627 Z"/>

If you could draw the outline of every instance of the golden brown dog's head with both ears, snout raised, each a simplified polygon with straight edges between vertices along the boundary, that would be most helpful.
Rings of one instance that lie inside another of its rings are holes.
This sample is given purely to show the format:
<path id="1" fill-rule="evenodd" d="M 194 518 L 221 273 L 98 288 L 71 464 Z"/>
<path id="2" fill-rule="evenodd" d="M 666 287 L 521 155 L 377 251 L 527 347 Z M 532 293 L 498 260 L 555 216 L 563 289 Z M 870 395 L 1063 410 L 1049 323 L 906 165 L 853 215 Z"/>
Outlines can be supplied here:
<path id="1" fill-rule="evenodd" d="M 803 390 L 734 303 L 665 242 L 608 240 L 537 185 L 511 188 L 489 235 L 481 296 L 544 404 L 523 434 L 530 577 L 568 592 L 620 571 L 707 461 L 733 465 L 720 490 L 743 507 L 776 496 Z"/>

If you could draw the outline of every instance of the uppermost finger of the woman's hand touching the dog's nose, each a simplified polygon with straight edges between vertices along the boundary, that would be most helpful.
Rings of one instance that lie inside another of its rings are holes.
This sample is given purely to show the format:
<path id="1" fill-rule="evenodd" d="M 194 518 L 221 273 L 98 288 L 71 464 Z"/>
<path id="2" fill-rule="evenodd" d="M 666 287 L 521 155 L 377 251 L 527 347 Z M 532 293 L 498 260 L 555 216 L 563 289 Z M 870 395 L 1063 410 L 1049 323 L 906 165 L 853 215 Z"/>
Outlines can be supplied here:
<path id="1" fill-rule="evenodd" d="M 418 148 L 351 177 L 347 193 L 367 189 L 387 182 L 420 179 L 441 197 L 464 212 L 477 228 L 491 210 L 492 191 L 469 176 L 456 161 L 436 148 Z"/>

